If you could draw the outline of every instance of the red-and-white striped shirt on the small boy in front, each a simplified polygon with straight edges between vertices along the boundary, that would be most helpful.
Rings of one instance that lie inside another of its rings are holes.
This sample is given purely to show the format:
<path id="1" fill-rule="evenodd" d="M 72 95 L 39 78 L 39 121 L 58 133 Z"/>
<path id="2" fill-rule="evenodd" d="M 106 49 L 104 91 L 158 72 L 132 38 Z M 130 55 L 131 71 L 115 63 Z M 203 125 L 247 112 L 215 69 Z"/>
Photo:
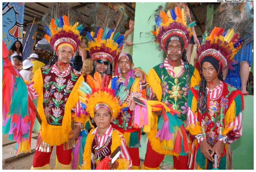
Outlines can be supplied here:
<path id="1" fill-rule="evenodd" d="M 110 124 L 110 127 L 107 129 L 105 134 L 103 134 L 100 137 L 100 135 L 98 134 L 98 127 L 97 127 L 92 132 L 92 134 L 95 134 L 97 136 L 98 143 L 99 143 L 99 145 L 95 149 L 99 149 L 101 146 L 103 146 L 106 143 L 108 136 L 112 135 L 112 132 L 113 132 L 113 127 Z M 119 136 L 122 138 L 122 141 L 121 141 L 121 143 L 122 143 L 122 145 L 121 145 L 121 155 L 119 156 L 119 158 L 127 159 L 127 161 L 129 161 L 129 168 L 128 168 L 128 170 L 130 170 L 131 166 L 132 166 L 132 162 L 131 162 L 131 158 L 130 158 L 130 155 L 128 153 L 128 150 L 126 148 L 126 141 L 125 141 L 125 138 L 121 134 L 119 134 Z"/>

